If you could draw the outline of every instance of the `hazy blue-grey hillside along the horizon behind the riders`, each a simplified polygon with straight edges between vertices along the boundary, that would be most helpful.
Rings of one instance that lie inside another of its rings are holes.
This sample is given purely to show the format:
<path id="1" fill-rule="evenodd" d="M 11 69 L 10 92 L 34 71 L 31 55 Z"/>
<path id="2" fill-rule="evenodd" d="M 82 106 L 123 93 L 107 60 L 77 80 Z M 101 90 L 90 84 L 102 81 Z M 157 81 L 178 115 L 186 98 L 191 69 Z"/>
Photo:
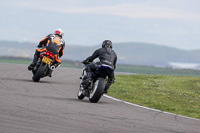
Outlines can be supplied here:
<path id="1" fill-rule="evenodd" d="M 0 56 L 20 56 L 32 58 L 37 44 L 0 41 Z M 67 45 L 63 59 L 82 61 L 93 53 L 97 46 Z M 119 64 L 170 66 L 171 62 L 196 63 L 200 61 L 200 51 L 186 51 L 147 43 L 115 43 L 113 49 Z"/>

